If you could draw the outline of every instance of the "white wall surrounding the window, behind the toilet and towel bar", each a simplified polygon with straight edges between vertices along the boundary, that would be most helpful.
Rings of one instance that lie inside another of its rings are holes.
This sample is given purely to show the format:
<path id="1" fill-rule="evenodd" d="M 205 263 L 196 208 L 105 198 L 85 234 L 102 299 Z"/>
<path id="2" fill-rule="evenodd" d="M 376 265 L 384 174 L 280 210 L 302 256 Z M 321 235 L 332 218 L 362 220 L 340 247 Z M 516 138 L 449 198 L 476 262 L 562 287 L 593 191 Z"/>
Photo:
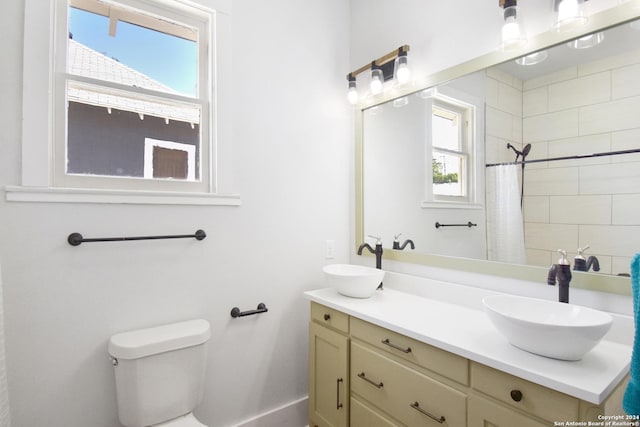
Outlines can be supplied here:
<path id="1" fill-rule="evenodd" d="M 20 184 L 23 1 L 0 17 L 0 185 Z M 306 289 L 352 250 L 348 5 L 233 2 L 234 183 L 241 207 L 8 203 L 0 258 L 13 427 L 118 425 L 106 343 L 115 332 L 212 324 L 197 414 L 235 425 L 307 393 Z M 182 234 L 202 241 L 93 243 Z M 325 241 L 336 258 L 325 260 Z M 269 312 L 232 319 L 232 307 Z"/>

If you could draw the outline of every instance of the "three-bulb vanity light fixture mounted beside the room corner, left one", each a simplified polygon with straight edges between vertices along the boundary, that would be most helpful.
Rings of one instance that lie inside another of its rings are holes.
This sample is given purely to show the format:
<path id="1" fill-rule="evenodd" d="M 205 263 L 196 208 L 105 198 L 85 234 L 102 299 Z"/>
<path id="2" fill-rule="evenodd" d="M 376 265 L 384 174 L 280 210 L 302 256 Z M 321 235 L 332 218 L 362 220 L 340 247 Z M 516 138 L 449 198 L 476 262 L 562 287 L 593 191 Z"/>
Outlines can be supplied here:
<path id="1" fill-rule="evenodd" d="M 358 92 L 356 87 L 356 76 L 367 70 L 371 72 L 371 82 L 369 88 L 371 93 L 377 95 L 382 92 L 384 82 L 394 78 L 399 84 L 409 82 L 411 74 L 409 71 L 409 62 L 407 53 L 409 45 L 400 46 L 398 49 L 387 53 L 384 56 L 371 61 L 367 65 L 363 65 L 355 71 L 347 74 L 349 82 L 347 98 L 351 104 L 358 103 Z"/>

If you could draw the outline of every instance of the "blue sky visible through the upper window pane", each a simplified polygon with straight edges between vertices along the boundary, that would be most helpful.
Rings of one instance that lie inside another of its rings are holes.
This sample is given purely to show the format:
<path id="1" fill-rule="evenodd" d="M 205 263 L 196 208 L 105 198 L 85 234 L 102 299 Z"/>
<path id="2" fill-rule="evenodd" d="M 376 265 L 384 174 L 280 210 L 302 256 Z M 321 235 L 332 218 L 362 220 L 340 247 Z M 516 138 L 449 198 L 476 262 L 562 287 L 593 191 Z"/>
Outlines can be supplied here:
<path id="1" fill-rule="evenodd" d="M 109 19 L 69 9 L 69 31 L 78 43 L 116 59 L 170 88 L 196 95 L 197 44 L 169 34 L 118 21 L 109 35 Z"/>

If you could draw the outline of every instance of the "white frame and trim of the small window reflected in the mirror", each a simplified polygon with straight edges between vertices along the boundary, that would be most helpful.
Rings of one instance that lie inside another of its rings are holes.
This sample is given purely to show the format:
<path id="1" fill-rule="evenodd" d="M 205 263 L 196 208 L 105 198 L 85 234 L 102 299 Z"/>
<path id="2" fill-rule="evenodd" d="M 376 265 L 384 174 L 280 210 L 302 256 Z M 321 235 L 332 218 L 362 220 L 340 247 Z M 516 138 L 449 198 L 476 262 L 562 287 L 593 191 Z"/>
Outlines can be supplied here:
<path id="1" fill-rule="evenodd" d="M 465 175 L 461 177 L 465 182 L 465 196 L 444 196 L 433 193 L 433 141 L 432 141 L 432 108 L 429 108 L 430 116 L 427 120 L 428 141 L 425 147 L 425 200 L 422 208 L 442 209 L 482 209 L 484 194 L 484 180 L 482 179 L 484 165 L 484 105 L 483 103 L 462 91 L 451 87 L 440 87 L 430 96 L 431 107 L 433 105 L 452 106 L 454 110 L 463 112 L 461 132 L 465 133 L 463 139 L 463 151 L 466 154 Z"/>

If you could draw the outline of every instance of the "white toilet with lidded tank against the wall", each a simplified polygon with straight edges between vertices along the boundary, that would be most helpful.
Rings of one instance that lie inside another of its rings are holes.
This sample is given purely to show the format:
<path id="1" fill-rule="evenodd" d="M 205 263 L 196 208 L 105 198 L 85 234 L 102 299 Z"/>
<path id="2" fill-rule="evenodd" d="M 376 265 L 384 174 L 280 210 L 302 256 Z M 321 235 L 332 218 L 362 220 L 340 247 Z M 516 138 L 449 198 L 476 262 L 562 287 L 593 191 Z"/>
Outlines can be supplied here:
<path id="1" fill-rule="evenodd" d="M 123 332 L 109 340 L 118 417 L 125 427 L 206 427 L 192 414 L 202 400 L 209 322 Z"/>

